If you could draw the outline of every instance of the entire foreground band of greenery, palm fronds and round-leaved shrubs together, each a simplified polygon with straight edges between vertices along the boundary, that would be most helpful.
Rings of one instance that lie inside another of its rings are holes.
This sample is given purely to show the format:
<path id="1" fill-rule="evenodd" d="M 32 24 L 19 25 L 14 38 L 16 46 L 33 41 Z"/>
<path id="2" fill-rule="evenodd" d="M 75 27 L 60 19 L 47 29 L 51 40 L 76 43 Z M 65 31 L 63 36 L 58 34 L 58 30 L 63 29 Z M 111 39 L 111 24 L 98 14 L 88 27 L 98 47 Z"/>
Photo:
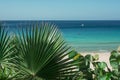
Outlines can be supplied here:
<path id="1" fill-rule="evenodd" d="M 70 51 L 55 25 L 31 25 L 15 36 L 0 26 L 0 80 L 120 80 L 119 52 L 111 52 L 112 69 L 98 59 Z"/>

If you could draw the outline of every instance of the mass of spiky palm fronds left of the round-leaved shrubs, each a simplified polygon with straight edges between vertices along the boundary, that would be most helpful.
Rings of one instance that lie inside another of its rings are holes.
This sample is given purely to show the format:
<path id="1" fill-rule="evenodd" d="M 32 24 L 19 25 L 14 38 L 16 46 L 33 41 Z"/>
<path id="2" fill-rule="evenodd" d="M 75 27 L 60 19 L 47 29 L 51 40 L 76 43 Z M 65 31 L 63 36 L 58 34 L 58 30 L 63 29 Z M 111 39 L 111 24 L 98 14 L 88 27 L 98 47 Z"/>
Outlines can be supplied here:
<path id="1" fill-rule="evenodd" d="M 64 80 L 78 71 L 55 25 L 32 25 L 17 37 L 7 33 L 0 26 L 0 80 Z"/>

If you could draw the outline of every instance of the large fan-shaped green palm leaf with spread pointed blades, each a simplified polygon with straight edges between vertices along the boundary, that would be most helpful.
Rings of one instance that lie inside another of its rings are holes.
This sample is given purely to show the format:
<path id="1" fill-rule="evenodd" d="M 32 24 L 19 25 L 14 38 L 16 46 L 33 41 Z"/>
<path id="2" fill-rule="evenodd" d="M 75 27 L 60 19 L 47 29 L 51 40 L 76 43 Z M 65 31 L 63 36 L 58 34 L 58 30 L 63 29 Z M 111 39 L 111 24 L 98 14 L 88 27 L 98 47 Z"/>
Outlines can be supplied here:
<path id="1" fill-rule="evenodd" d="M 16 64 L 23 78 L 39 77 L 63 80 L 76 72 L 74 61 L 68 58 L 69 47 L 55 25 L 37 24 L 19 34 Z"/>

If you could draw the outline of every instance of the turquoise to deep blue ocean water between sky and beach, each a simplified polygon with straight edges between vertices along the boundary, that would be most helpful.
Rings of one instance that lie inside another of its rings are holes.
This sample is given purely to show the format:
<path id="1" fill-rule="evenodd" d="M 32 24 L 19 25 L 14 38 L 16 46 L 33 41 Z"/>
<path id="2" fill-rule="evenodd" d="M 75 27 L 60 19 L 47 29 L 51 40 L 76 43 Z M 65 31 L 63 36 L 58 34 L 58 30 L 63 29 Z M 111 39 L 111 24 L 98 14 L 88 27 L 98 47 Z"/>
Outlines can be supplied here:
<path id="1" fill-rule="evenodd" d="M 120 21 L 2 21 L 13 35 L 18 25 L 49 22 L 58 26 L 67 44 L 78 52 L 103 52 L 120 46 Z"/>

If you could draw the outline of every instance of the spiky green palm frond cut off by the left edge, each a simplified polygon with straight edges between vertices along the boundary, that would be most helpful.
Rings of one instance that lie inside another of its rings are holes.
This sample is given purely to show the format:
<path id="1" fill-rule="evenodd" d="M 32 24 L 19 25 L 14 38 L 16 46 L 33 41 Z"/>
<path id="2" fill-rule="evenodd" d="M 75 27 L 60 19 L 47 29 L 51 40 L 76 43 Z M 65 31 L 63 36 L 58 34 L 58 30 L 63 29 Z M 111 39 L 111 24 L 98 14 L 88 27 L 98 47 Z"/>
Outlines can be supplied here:
<path id="1" fill-rule="evenodd" d="M 10 36 L 8 32 L 0 25 L 0 67 L 7 67 L 10 65 L 9 62 L 13 59 L 11 56 L 14 52 L 14 45 L 10 43 Z"/>

